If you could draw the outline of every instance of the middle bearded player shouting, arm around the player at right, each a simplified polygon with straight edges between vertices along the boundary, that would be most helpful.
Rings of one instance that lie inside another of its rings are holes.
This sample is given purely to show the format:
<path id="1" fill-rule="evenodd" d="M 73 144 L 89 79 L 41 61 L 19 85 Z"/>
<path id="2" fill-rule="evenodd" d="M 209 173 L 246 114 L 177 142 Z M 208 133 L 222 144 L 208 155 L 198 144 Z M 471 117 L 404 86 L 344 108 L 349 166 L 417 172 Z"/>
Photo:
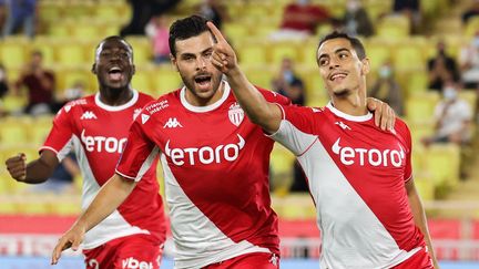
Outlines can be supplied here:
<path id="1" fill-rule="evenodd" d="M 213 45 L 201 17 L 171 25 L 171 60 L 185 86 L 143 108 L 110 180 L 141 183 L 141 174 L 160 154 L 175 268 L 277 269 L 277 216 L 271 208 L 268 187 L 274 141 L 244 116 L 230 84 L 211 62 Z M 258 92 L 271 102 L 289 105 L 282 95 Z M 77 246 L 83 232 L 130 190 L 106 185 L 59 240 L 52 262 L 71 244 Z"/>

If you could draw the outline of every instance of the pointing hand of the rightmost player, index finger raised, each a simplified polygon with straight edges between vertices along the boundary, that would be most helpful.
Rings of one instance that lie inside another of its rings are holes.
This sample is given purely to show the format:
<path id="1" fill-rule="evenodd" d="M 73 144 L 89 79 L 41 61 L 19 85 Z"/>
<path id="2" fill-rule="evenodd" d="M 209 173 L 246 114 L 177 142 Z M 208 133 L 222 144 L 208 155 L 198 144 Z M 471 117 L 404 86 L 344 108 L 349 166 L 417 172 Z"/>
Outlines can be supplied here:
<path id="1" fill-rule="evenodd" d="M 212 63 L 217 70 L 227 75 L 237 68 L 236 53 L 213 22 L 208 21 L 206 25 L 216 39 L 216 44 L 213 46 Z"/>

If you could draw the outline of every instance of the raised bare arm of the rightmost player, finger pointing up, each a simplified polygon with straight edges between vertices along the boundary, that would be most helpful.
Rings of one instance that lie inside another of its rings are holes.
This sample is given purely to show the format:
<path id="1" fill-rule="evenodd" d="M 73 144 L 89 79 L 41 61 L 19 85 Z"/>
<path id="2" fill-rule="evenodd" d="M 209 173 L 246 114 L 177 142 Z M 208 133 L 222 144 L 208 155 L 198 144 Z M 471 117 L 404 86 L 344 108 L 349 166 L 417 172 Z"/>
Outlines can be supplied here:
<path id="1" fill-rule="evenodd" d="M 207 25 L 216 39 L 212 54 L 213 65 L 227 76 L 240 105 L 249 120 L 261 125 L 268 133 L 276 132 L 282 120 L 279 107 L 268 103 L 247 80 L 237 64 L 236 53 L 220 30 L 212 22 L 207 22 Z"/>

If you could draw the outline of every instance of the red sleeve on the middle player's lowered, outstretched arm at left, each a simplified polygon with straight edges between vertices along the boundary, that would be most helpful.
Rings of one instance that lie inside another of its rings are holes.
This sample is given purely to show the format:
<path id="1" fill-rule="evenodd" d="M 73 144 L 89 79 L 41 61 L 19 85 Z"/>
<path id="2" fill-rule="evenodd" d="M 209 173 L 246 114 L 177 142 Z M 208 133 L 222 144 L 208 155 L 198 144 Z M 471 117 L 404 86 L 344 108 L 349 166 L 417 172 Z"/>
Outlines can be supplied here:
<path id="1" fill-rule="evenodd" d="M 126 145 L 116 165 L 119 175 L 135 182 L 141 180 L 149 168 L 155 164 L 159 154 L 159 148 L 147 137 L 145 125 L 140 121 L 136 118 L 130 126 Z"/>

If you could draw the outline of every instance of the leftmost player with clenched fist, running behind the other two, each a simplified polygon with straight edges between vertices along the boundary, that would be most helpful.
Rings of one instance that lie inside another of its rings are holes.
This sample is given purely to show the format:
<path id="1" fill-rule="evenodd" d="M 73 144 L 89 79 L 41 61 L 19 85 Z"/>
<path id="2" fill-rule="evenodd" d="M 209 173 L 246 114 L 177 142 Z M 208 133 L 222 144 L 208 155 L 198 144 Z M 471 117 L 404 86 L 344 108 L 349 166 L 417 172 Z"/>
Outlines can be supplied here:
<path id="1" fill-rule="evenodd" d="M 109 37 L 98 45 L 92 72 L 98 77 L 99 93 L 62 107 L 40 149 L 40 157 L 26 164 L 24 154 L 20 154 L 6 162 L 14 179 L 39 184 L 50 177 L 73 148 L 83 175 L 82 208 L 89 206 L 114 174 L 129 126 L 141 108 L 153 100 L 131 87 L 135 72 L 133 50 L 120 37 Z M 165 217 L 156 182 L 156 163 L 157 159 L 151 159 L 129 198 L 84 235 L 86 268 L 160 267 Z M 121 192 L 119 186 L 124 185 L 133 188 L 131 180 L 111 180 L 108 185 L 115 192 Z"/>

